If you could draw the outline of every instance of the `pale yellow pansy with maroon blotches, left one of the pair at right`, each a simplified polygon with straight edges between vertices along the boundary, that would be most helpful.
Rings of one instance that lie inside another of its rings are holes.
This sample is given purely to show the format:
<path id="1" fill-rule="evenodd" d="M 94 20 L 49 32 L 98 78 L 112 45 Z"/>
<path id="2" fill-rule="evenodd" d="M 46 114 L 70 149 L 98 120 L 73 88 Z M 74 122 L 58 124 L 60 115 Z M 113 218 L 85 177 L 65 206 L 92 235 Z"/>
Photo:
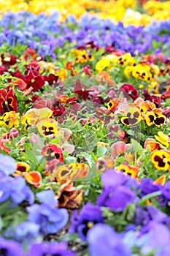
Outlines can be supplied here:
<path id="1" fill-rule="evenodd" d="M 142 120 L 142 114 L 138 108 L 129 108 L 122 117 L 121 122 L 127 126 L 138 124 Z"/>

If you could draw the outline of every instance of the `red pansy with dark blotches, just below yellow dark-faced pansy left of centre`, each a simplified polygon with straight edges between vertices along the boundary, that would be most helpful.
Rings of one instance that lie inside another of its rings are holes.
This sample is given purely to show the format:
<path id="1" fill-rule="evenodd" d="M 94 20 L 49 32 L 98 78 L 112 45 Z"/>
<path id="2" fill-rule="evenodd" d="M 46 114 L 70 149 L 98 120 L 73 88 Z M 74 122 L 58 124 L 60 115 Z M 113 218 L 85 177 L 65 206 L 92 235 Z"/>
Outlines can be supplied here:
<path id="1" fill-rule="evenodd" d="M 53 159 L 58 159 L 59 162 L 63 162 L 63 149 L 56 144 L 49 143 L 42 148 L 41 154 L 46 158 L 47 162 Z"/>

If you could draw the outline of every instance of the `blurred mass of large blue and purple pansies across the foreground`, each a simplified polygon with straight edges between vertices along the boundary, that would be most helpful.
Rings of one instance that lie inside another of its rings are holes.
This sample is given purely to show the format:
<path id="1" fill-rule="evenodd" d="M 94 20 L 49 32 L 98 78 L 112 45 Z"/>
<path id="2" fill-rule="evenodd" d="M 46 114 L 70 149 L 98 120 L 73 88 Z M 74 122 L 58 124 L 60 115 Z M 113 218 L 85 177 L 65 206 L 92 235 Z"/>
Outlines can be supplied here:
<path id="1" fill-rule="evenodd" d="M 34 194 L 23 177 L 15 176 L 17 163 L 12 157 L 1 154 L 0 162 L 1 254 L 78 255 L 67 247 L 64 231 L 62 241 L 54 241 L 69 221 L 54 192 L 45 189 Z M 74 210 L 69 223 L 69 239 L 82 244 L 81 253 L 168 256 L 169 181 L 137 181 L 111 168 L 101 175 L 101 182 L 95 204 L 89 201 L 80 211 Z"/>

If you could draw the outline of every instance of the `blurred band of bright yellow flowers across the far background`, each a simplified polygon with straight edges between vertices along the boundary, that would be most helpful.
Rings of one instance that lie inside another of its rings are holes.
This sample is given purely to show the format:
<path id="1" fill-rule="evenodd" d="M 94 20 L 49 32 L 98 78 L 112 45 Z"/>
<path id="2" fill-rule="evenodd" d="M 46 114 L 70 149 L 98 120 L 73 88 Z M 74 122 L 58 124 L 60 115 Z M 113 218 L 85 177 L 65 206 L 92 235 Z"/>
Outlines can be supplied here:
<path id="1" fill-rule="evenodd" d="M 157 0 L 119 0 L 119 1 L 8 1 L 8 5 L 1 2 L 1 12 L 28 10 L 39 14 L 46 12 L 50 15 L 54 10 L 60 12 L 60 20 L 63 21 L 68 15 L 80 18 L 85 12 L 91 15 L 98 15 L 100 18 L 110 19 L 114 22 L 123 21 L 125 24 L 145 26 L 152 20 L 166 20 L 169 18 L 169 1 Z"/>

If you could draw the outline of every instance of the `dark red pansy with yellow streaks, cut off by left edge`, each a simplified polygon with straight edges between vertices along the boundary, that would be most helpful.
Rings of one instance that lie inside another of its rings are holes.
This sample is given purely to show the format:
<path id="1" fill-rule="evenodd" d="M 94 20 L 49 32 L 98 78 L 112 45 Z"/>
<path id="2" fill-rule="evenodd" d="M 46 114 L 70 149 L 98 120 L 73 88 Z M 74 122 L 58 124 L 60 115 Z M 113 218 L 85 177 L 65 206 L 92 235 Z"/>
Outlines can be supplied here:
<path id="1" fill-rule="evenodd" d="M 15 97 L 15 91 L 12 87 L 8 89 L 0 89 L 0 113 L 4 114 L 7 111 L 17 112 L 18 102 Z"/>

